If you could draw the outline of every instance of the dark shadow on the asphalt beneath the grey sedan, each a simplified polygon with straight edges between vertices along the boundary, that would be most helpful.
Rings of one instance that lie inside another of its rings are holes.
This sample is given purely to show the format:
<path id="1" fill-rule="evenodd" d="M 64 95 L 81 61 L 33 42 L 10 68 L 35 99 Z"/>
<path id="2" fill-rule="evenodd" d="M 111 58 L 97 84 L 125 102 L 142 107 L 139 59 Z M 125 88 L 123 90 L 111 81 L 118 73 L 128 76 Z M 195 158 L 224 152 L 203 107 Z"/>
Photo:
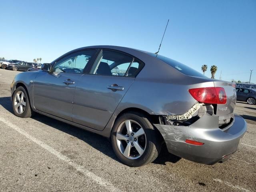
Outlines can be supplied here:
<path id="1" fill-rule="evenodd" d="M 6 110 L 8 110 L 8 112 L 13 114 L 10 97 L 0 97 L 0 105 L 2 105 Z M 48 126 L 51 126 L 55 129 L 58 129 L 62 132 L 65 132 L 73 137 L 76 137 L 76 138 L 86 142 L 87 144 L 89 144 L 90 146 L 95 148 L 96 150 L 99 150 L 103 154 L 109 156 L 110 158 L 120 162 L 120 160 L 118 160 L 118 158 L 116 157 L 116 155 L 112 149 L 110 140 L 108 138 L 105 138 L 103 136 L 100 136 L 98 134 L 95 134 L 95 133 L 92 133 L 92 132 L 89 132 L 86 130 L 82 130 L 75 126 L 66 124 L 64 122 L 55 120 L 53 118 L 50 118 L 50 117 L 47 117 L 47 116 L 44 116 L 44 115 L 41 115 L 38 113 L 36 113 L 36 115 L 34 115 L 32 117 L 32 119 L 34 119 L 38 122 L 41 122 L 43 124 L 46 124 Z M 165 165 L 166 162 L 176 163 L 176 162 L 178 162 L 178 160 L 180 160 L 180 158 L 175 155 L 170 154 L 167 151 L 166 146 L 163 145 L 160 155 L 158 156 L 158 158 L 156 158 L 156 160 L 153 163 Z"/>

